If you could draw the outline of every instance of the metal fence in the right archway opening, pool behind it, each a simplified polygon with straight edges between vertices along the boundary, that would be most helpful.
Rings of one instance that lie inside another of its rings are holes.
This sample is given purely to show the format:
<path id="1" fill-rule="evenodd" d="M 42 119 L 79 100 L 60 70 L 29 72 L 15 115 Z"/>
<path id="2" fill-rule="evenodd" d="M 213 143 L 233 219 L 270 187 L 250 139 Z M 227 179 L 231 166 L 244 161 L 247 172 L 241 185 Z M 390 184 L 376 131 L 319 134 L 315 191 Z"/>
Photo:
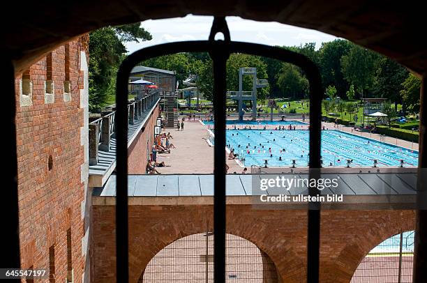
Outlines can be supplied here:
<path id="1" fill-rule="evenodd" d="M 412 282 L 413 260 L 414 231 L 397 234 L 369 252 L 351 283 Z"/>

